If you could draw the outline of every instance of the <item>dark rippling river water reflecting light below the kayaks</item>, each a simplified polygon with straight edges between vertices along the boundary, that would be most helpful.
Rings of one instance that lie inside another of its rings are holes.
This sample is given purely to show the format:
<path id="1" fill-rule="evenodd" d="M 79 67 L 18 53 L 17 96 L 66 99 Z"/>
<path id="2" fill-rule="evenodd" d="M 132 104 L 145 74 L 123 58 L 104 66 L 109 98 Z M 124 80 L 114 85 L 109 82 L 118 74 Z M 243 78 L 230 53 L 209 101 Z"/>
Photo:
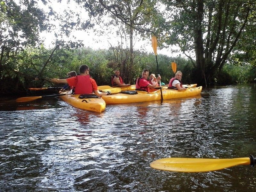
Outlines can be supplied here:
<path id="1" fill-rule="evenodd" d="M 255 191 L 255 168 L 159 171 L 165 157 L 256 156 L 256 84 L 192 98 L 109 105 L 0 100 L 0 191 Z"/>

